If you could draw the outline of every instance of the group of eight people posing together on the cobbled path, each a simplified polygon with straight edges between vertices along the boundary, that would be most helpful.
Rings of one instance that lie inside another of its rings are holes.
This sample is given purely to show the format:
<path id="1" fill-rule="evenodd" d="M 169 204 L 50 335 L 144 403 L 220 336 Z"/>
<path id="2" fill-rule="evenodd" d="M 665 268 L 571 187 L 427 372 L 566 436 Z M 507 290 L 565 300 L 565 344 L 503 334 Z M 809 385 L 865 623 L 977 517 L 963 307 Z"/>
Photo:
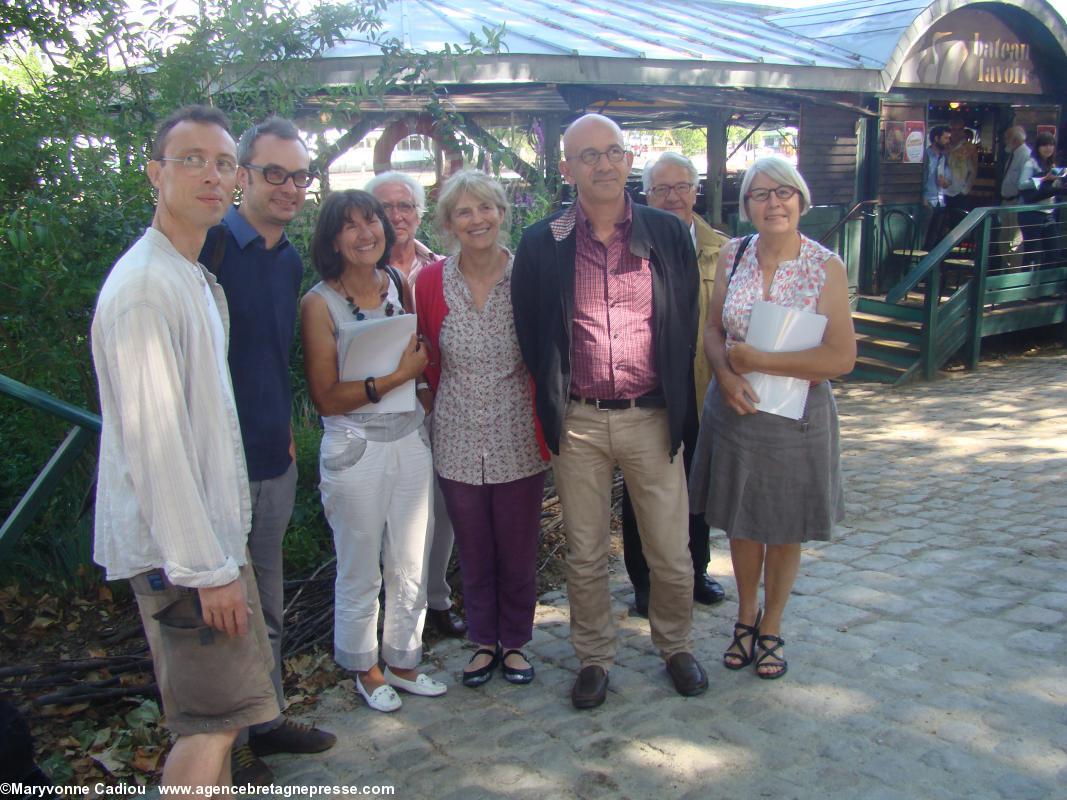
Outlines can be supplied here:
<path id="1" fill-rule="evenodd" d="M 527 228 L 514 253 L 505 191 L 479 171 L 452 175 L 436 198 L 445 258 L 415 239 L 425 196 L 410 178 L 332 192 L 309 252 L 320 281 L 299 299 L 285 226 L 315 175 L 296 127 L 272 117 L 235 143 L 216 109 L 163 121 L 147 165 L 153 224 L 101 289 L 92 347 L 103 419 L 95 558 L 138 601 L 178 735 L 165 783 L 269 782 L 260 756 L 335 742 L 281 713 L 298 302 L 337 555 L 334 654 L 370 708 L 447 691 L 418 669 L 428 614 L 473 643 L 465 686 L 497 670 L 535 679 L 523 647 L 550 465 L 568 538 L 575 708 L 605 701 L 616 654 L 616 466 L 635 605 L 674 689 L 707 688 L 691 613 L 723 596 L 706 574 L 710 526 L 729 537 L 737 581 L 724 667 L 785 674 L 800 543 L 828 539 L 843 513 L 827 381 L 856 353 L 844 265 L 799 233 L 811 196 L 784 159 L 746 173 L 743 219 L 757 233 L 732 241 L 694 214 L 688 159 L 646 170 L 649 206 L 626 193 L 632 162 L 612 121 L 575 121 L 560 171 L 576 201 Z M 822 343 L 746 345 L 761 299 L 825 316 Z M 361 326 L 411 314 L 417 330 L 392 370 L 346 377 Z M 757 413 L 753 371 L 808 382 L 801 418 Z M 445 573 L 453 534 L 465 625 Z"/>

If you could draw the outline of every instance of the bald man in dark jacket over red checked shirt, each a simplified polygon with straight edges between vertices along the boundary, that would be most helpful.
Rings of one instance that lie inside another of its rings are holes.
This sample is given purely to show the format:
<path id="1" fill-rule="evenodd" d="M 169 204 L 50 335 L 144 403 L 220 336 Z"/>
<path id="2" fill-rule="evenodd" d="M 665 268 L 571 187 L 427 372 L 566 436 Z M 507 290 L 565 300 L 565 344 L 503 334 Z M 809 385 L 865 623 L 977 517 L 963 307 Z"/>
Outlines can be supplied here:
<path id="1" fill-rule="evenodd" d="M 575 708 L 607 695 L 616 654 L 608 592 L 610 497 L 630 485 L 651 572 L 652 642 L 680 694 L 707 675 L 692 657 L 688 494 L 679 450 L 692 403 L 698 272 L 673 214 L 632 204 L 619 126 L 587 114 L 563 135 L 577 202 L 523 231 L 511 276 L 515 333 L 567 528 Z"/>

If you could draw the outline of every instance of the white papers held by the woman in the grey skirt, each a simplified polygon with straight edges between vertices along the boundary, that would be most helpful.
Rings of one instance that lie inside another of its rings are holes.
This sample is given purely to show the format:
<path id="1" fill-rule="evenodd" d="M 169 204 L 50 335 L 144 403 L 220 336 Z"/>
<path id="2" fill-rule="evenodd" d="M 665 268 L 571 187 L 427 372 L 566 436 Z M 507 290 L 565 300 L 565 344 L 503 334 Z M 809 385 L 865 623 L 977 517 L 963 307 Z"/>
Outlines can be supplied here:
<path id="1" fill-rule="evenodd" d="M 822 314 L 758 300 L 752 304 L 745 342 L 763 352 L 791 353 L 816 347 L 823 341 L 825 331 L 826 317 Z M 803 416 L 810 388 L 808 381 L 763 372 L 749 372 L 745 378 L 760 397 L 757 410 L 790 419 Z"/>

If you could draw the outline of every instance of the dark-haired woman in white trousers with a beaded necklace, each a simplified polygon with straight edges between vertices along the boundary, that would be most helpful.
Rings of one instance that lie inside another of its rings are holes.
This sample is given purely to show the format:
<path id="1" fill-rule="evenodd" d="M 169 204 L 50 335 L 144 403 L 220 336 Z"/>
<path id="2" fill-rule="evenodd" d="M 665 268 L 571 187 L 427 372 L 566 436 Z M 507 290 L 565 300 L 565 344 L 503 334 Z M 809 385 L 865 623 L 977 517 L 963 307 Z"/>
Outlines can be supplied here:
<path id="1" fill-rule="evenodd" d="M 416 672 L 423 656 L 433 528 L 433 466 L 425 411 L 416 403 L 410 412 L 365 412 L 399 386 L 420 380 L 426 348 L 412 335 L 388 374 L 340 379 L 340 326 L 404 314 L 411 307 L 403 279 L 387 267 L 393 239 L 393 227 L 372 195 L 354 190 L 329 195 L 310 247 L 322 281 L 300 305 L 307 388 L 324 428 L 319 489 L 337 553 L 334 658 L 356 672 L 356 690 L 379 711 L 400 707 L 395 689 L 424 697 L 447 690 Z M 383 576 L 384 671 L 377 636 Z"/>

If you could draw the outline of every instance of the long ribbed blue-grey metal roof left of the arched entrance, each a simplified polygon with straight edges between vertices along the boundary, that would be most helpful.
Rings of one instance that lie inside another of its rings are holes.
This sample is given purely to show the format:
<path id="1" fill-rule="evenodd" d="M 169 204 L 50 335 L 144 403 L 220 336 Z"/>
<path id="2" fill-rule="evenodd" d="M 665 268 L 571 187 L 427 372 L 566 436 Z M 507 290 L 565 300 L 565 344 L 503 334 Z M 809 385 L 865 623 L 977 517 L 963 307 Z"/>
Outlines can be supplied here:
<path id="1" fill-rule="evenodd" d="M 769 20 L 766 9 L 728 2 L 676 0 L 395 0 L 382 13 L 384 33 L 414 50 L 462 43 L 483 27 L 506 26 L 511 55 L 773 64 L 878 66 L 845 41 L 828 43 Z M 817 31 L 816 31 L 817 32 Z M 363 42 L 327 58 L 379 55 Z M 536 80 L 536 78 L 535 78 Z"/>

